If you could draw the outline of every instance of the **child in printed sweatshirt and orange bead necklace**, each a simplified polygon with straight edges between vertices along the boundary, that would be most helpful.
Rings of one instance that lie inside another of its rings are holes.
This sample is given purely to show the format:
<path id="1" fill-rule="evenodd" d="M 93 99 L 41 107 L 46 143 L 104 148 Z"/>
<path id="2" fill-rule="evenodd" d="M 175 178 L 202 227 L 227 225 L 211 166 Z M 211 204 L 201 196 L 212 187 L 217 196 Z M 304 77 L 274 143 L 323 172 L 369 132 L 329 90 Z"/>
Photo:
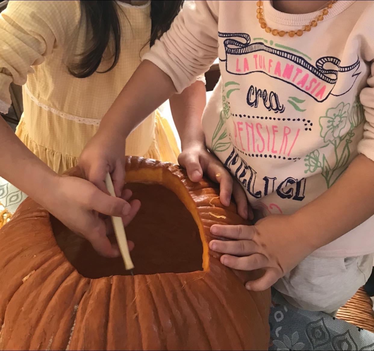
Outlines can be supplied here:
<path id="1" fill-rule="evenodd" d="M 373 265 L 373 15 L 374 1 L 188 4 L 103 118 L 82 167 L 101 181 L 119 160 L 115 140 L 218 56 L 206 144 L 262 219 L 213 226 L 233 240 L 210 248 L 229 267 L 264 268 L 248 289 L 275 284 L 295 306 L 334 314 Z"/>

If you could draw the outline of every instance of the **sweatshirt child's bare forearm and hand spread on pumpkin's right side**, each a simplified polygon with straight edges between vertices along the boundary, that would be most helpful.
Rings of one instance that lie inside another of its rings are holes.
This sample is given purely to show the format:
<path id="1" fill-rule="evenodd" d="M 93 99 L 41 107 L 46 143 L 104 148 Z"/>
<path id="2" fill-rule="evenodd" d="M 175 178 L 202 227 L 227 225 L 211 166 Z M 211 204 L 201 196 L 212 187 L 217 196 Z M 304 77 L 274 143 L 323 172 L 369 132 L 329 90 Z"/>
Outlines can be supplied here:
<path id="1" fill-rule="evenodd" d="M 229 267 L 264 268 L 262 278 L 246 284 L 250 290 L 264 290 L 374 214 L 373 179 L 374 162 L 360 154 L 331 188 L 295 214 L 265 217 L 255 226 L 212 226 L 213 234 L 235 241 L 212 240 L 209 245 L 224 253 L 221 262 Z"/>

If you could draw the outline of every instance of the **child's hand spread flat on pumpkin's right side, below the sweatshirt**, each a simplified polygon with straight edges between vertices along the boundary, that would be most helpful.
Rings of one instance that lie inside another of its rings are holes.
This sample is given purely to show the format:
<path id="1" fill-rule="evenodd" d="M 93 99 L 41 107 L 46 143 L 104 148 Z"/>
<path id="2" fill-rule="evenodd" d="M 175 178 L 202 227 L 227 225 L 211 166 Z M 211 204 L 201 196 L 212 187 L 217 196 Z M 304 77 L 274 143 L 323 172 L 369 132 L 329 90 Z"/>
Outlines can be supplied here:
<path id="1" fill-rule="evenodd" d="M 292 215 L 272 215 L 254 226 L 211 227 L 211 233 L 230 241 L 211 240 L 209 247 L 224 255 L 221 263 L 239 270 L 264 269 L 264 275 L 246 283 L 248 290 L 261 291 L 271 287 L 293 269 L 313 248 L 303 226 L 297 226 Z"/>

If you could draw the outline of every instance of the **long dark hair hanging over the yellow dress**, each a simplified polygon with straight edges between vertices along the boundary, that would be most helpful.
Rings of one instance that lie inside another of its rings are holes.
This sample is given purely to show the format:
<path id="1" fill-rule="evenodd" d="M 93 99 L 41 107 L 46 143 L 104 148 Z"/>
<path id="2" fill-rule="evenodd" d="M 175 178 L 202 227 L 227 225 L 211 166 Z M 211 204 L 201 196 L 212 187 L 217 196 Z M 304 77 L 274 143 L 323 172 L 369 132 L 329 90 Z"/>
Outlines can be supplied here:
<path id="1" fill-rule="evenodd" d="M 82 13 L 86 14 L 87 24 L 92 30 L 91 45 L 82 54 L 78 63 L 68 65 L 69 72 L 77 78 L 91 76 L 98 69 L 105 49 L 111 37 L 114 41 L 113 63 L 99 73 L 110 71 L 116 66 L 121 51 L 121 27 L 117 14 L 116 1 L 80 1 Z M 182 1 L 152 0 L 151 1 L 151 33 L 148 42 L 153 45 L 167 31 L 175 16 L 181 9 Z M 147 45 L 147 43 L 144 43 Z"/>

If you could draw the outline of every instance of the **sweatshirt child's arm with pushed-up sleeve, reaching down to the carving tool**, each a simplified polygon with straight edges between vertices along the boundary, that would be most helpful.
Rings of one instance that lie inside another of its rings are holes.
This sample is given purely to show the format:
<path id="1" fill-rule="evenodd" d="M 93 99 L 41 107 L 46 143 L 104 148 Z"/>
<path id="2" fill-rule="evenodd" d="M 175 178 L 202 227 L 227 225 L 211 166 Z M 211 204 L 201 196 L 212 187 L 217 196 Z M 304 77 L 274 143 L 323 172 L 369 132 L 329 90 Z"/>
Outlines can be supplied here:
<path id="1" fill-rule="evenodd" d="M 187 1 L 171 29 L 144 55 L 145 60 L 81 154 L 80 165 L 95 185 L 103 187 L 109 170 L 116 193 L 120 192 L 125 138 L 165 100 L 190 86 L 217 58 L 218 7 L 219 1 Z"/>

